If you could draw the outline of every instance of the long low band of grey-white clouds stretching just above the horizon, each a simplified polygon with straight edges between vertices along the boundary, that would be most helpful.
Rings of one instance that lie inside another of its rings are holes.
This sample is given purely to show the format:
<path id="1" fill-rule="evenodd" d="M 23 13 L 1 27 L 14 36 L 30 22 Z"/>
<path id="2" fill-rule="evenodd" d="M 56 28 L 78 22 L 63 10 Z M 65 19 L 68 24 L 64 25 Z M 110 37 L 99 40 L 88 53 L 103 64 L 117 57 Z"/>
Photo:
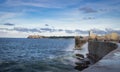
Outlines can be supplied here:
<path id="1" fill-rule="evenodd" d="M 0 28 L 1 33 L 5 32 L 5 31 L 18 31 L 18 32 L 25 32 L 25 33 L 45 33 L 45 32 L 49 32 L 49 33 L 54 33 L 54 32 L 65 32 L 67 34 L 88 34 L 89 31 L 92 31 L 93 33 L 96 34 L 108 34 L 108 33 L 112 33 L 112 32 L 116 32 L 118 34 L 120 34 L 120 30 L 114 30 L 111 28 L 106 28 L 104 30 L 100 30 L 100 29 L 90 29 L 90 30 L 80 30 L 80 29 L 76 29 L 76 30 L 67 30 L 67 29 L 53 29 L 53 28 L 23 28 L 23 27 L 14 27 L 12 29 L 8 29 L 8 28 Z"/>

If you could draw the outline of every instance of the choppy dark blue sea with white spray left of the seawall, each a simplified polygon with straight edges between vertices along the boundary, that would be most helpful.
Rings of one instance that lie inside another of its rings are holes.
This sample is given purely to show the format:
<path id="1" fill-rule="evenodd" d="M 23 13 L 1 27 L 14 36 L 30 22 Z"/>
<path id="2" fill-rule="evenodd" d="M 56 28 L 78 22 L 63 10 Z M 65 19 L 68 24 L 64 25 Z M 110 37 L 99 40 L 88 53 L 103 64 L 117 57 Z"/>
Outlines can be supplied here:
<path id="1" fill-rule="evenodd" d="M 0 72 L 78 72 L 74 39 L 0 38 Z"/>

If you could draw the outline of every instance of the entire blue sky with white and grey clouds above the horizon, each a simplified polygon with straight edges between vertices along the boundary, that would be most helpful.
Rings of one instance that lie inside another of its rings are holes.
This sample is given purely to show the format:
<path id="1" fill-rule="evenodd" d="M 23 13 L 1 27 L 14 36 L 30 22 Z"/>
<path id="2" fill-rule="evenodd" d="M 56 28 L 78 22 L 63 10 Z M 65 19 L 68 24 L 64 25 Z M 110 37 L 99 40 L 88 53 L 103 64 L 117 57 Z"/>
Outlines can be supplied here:
<path id="1" fill-rule="evenodd" d="M 120 0 L 0 0 L 0 37 L 120 34 Z"/>

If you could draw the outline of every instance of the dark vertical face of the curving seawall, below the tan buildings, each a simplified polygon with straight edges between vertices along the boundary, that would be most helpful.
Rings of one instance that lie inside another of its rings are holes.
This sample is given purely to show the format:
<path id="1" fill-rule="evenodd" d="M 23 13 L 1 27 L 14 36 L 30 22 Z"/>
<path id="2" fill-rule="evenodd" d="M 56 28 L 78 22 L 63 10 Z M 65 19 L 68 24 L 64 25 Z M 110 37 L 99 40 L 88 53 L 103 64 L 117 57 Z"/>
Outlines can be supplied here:
<path id="1" fill-rule="evenodd" d="M 117 45 L 112 42 L 89 41 L 88 51 L 89 58 L 95 63 L 102 59 L 105 55 L 115 50 Z"/>

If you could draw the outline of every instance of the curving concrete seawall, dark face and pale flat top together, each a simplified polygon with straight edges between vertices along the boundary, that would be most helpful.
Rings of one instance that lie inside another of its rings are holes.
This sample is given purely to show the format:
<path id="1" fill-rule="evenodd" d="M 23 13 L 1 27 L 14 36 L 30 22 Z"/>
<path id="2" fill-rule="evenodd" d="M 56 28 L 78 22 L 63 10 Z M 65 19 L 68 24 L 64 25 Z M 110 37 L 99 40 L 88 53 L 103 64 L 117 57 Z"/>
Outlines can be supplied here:
<path id="1" fill-rule="evenodd" d="M 88 50 L 95 64 L 82 72 L 120 72 L 119 43 L 90 41 Z"/>

